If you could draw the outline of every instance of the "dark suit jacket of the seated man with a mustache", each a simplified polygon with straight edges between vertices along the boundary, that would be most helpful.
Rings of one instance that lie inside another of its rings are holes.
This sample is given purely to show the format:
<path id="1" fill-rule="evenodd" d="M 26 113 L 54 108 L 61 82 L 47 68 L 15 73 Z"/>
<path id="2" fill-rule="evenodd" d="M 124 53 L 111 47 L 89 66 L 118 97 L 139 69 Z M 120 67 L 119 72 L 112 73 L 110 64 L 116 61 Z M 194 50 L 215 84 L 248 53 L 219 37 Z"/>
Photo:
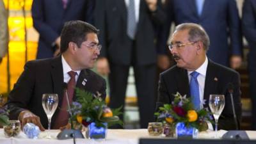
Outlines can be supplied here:
<path id="1" fill-rule="evenodd" d="M 234 122 L 230 94 L 227 90 L 228 83 L 234 84 L 234 105 L 237 121 L 241 120 L 241 92 L 239 74 L 234 70 L 218 65 L 209 60 L 205 77 L 204 107 L 209 108 L 208 100 L 210 94 L 225 95 L 225 108 L 219 119 L 219 129 L 236 129 Z M 163 104 L 170 104 L 173 94 L 179 92 L 181 95 L 189 95 L 188 72 L 176 65 L 160 74 L 157 108 Z M 239 123 L 238 123 L 239 124 Z"/>

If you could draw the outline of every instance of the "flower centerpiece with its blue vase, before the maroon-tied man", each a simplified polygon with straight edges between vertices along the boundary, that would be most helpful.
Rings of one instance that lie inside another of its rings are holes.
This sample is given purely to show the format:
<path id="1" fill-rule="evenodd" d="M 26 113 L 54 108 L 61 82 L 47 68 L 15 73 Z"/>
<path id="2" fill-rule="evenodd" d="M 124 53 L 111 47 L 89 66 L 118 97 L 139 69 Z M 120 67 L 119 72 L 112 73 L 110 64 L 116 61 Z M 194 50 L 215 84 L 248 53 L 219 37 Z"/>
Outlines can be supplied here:
<path id="1" fill-rule="evenodd" d="M 120 109 L 110 109 L 100 93 L 93 94 L 76 88 L 76 101 L 72 102 L 70 117 L 74 129 L 77 124 L 87 127 L 86 137 L 90 139 L 106 139 L 107 129 L 111 125 L 120 124 Z M 79 127 L 79 126 L 78 126 Z"/>

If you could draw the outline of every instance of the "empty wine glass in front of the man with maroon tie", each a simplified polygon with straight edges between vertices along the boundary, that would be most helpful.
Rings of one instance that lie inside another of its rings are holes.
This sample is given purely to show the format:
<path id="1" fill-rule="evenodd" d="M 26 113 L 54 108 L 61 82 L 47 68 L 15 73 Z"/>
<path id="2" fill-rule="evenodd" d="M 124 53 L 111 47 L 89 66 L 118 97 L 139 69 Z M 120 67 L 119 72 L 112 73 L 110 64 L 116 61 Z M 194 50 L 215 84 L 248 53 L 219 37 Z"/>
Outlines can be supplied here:
<path id="1" fill-rule="evenodd" d="M 50 129 L 51 129 L 51 119 L 52 119 L 52 115 L 54 114 L 54 112 L 56 111 L 56 108 L 58 106 L 58 94 L 56 93 L 45 93 L 43 94 L 42 97 L 42 105 L 44 108 L 44 111 L 47 115 L 48 118 L 48 134 L 47 134 L 47 138 L 51 139 L 51 135 L 50 135 Z"/>

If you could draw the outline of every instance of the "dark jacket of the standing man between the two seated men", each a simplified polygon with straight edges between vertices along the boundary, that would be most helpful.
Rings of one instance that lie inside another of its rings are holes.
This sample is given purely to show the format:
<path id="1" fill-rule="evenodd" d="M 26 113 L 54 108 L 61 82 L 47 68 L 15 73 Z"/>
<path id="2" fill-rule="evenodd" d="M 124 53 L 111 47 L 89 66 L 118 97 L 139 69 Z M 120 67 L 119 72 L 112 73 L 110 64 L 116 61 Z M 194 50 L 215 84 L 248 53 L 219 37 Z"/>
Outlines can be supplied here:
<path id="1" fill-rule="evenodd" d="M 156 63 L 156 46 L 154 44 L 155 26 L 163 24 L 165 14 L 160 1 L 156 12 L 148 10 L 147 3 L 140 1 L 140 16 L 138 20 L 135 45 L 127 36 L 127 8 L 124 0 L 102 0 L 96 7 L 104 11 L 97 12 L 95 26 L 100 29 L 99 42 L 102 43 L 100 56 L 107 57 L 111 63 L 130 65 L 132 61 L 132 47 L 134 58 L 138 65 Z M 99 8 L 98 7 L 98 8 Z M 96 8 L 96 10 L 98 10 Z"/>

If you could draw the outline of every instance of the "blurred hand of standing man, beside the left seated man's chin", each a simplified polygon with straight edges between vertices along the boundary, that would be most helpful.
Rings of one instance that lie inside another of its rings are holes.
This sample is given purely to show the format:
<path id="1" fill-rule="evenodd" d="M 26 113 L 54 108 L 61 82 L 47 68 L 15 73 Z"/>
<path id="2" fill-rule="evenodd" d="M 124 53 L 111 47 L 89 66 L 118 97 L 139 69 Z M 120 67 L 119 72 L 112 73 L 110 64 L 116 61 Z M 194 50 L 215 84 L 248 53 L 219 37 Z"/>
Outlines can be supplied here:
<path id="1" fill-rule="evenodd" d="M 102 76 L 108 76 L 110 70 L 107 58 L 99 58 L 96 68 L 99 74 L 102 74 Z"/>

